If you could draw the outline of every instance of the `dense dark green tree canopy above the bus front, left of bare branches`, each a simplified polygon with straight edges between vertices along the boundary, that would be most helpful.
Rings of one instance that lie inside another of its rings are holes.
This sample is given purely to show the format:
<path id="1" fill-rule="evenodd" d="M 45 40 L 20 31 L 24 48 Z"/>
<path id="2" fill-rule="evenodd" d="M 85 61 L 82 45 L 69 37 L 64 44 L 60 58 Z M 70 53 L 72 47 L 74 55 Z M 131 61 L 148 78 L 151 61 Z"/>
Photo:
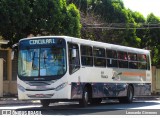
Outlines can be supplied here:
<path id="1" fill-rule="evenodd" d="M 66 0 L 0 0 L 0 35 L 11 44 L 33 35 L 80 37 L 80 14 Z"/>

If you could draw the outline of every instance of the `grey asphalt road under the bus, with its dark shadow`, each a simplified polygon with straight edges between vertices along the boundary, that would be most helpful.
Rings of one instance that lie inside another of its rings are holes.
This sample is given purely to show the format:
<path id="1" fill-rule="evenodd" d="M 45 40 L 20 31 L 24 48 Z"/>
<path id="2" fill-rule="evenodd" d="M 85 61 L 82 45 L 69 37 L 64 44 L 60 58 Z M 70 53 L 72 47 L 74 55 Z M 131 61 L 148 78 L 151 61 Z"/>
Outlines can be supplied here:
<path id="1" fill-rule="evenodd" d="M 50 104 L 48 108 L 43 108 L 39 103 L 1 105 L 0 109 L 13 109 L 17 113 L 36 112 L 43 115 L 125 115 L 145 113 L 148 115 L 156 113 L 160 115 L 160 100 L 134 100 L 131 104 L 120 104 L 117 101 L 104 101 L 100 105 L 89 105 L 81 108 L 76 102 L 60 102 Z M 131 113 L 131 114 L 130 114 Z"/>

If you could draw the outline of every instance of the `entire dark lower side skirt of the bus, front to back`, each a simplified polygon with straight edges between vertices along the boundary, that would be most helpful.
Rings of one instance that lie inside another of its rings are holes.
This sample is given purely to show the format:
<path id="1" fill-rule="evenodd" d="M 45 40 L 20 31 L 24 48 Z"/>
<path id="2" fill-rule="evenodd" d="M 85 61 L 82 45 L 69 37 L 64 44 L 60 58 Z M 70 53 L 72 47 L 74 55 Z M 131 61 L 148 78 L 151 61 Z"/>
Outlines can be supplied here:
<path id="1" fill-rule="evenodd" d="M 83 88 L 86 83 L 72 83 L 71 99 L 81 99 L 83 94 Z M 91 84 L 91 83 L 90 83 Z M 127 95 L 128 85 L 131 83 L 92 83 L 92 98 L 104 98 L 104 97 L 123 97 Z M 150 83 L 134 83 L 134 96 L 150 95 L 151 84 Z"/>

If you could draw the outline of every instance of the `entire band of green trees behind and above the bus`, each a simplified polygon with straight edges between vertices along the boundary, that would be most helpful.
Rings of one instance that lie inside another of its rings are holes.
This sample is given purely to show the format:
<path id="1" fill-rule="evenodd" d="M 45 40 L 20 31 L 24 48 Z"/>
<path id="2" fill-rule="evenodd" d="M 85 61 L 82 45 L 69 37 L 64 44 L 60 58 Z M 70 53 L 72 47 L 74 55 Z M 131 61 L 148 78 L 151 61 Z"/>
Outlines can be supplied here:
<path id="1" fill-rule="evenodd" d="M 108 28 L 87 28 L 97 21 Z M 144 18 L 122 0 L 0 0 L 0 36 L 12 44 L 29 34 L 69 35 L 150 49 L 152 64 L 160 66 L 160 28 L 150 27 L 159 24 L 153 13 Z"/>

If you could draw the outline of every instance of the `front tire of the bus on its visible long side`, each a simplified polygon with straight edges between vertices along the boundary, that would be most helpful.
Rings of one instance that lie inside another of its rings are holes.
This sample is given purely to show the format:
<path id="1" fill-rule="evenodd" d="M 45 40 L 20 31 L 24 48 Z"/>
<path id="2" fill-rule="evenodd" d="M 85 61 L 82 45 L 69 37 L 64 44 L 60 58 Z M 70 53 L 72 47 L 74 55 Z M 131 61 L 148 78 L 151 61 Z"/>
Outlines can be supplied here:
<path id="1" fill-rule="evenodd" d="M 89 91 L 88 88 L 85 87 L 82 93 L 82 99 L 79 101 L 80 106 L 87 107 L 89 103 Z"/>

